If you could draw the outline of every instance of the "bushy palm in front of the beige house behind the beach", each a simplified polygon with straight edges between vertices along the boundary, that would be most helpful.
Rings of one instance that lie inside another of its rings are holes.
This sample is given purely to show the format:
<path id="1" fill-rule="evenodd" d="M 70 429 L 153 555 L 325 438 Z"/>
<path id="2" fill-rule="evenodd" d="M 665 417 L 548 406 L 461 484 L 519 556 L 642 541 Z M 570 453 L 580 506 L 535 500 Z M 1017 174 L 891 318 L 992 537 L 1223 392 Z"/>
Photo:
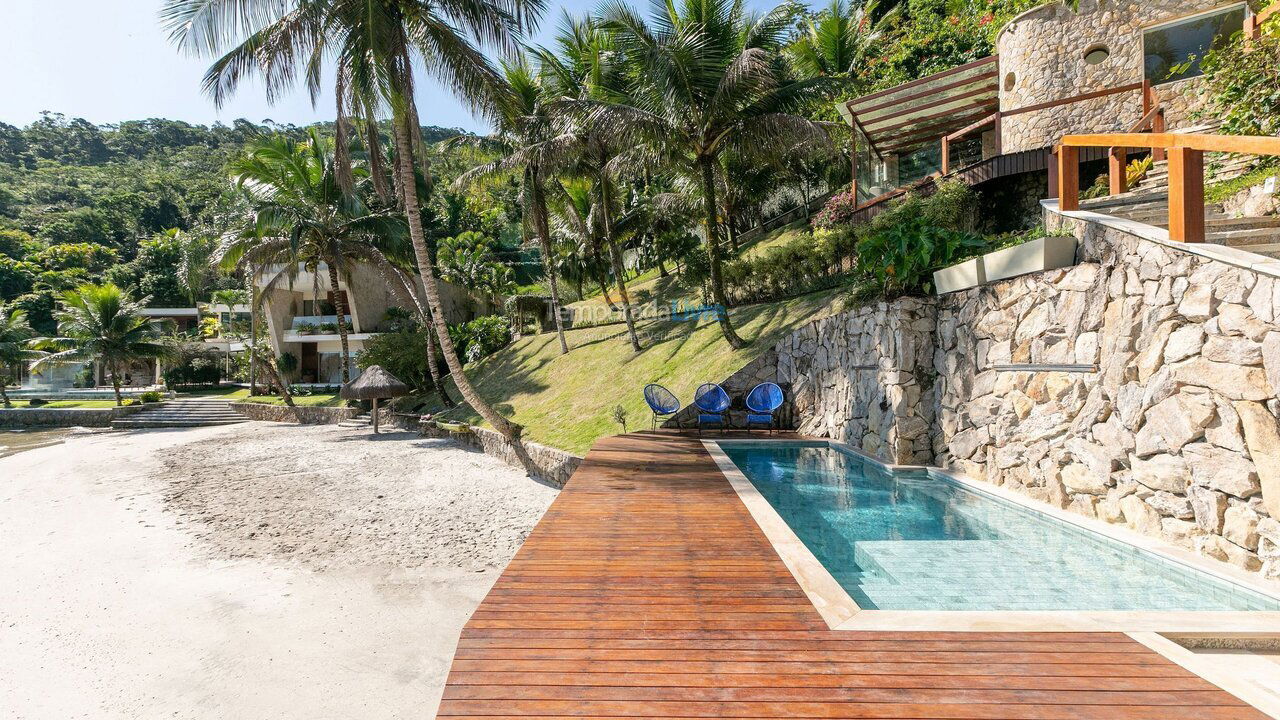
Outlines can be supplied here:
<path id="1" fill-rule="evenodd" d="M 371 209 L 353 186 L 343 187 L 340 163 L 315 129 L 307 142 L 259 140 L 228 167 L 253 214 L 247 229 L 219 249 L 219 264 L 232 268 L 247 260 L 257 268 L 279 266 L 268 286 L 292 283 L 300 264 L 315 272 L 324 265 L 342 342 L 342 382 L 348 383 L 349 328 L 339 281 L 361 263 L 390 272 L 385 250 L 403 237 L 403 222 L 389 210 Z M 362 168 L 352 170 L 353 182 L 357 176 L 369 178 Z"/>

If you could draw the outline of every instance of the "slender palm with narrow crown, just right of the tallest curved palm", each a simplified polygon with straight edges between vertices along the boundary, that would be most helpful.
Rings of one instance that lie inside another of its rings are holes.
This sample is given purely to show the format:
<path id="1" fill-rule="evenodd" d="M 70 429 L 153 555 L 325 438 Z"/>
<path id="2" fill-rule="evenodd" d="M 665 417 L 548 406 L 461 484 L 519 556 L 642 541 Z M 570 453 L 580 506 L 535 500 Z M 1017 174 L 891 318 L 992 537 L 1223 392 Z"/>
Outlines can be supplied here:
<path id="1" fill-rule="evenodd" d="M 556 316 L 556 334 L 559 338 L 561 354 L 568 352 L 564 340 L 564 324 L 561 319 L 559 281 L 552 250 L 550 222 L 547 209 L 547 169 L 540 158 L 540 145 L 552 136 L 553 118 L 547 109 L 547 91 L 541 78 L 530 67 L 529 60 L 520 55 L 515 60 L 500 64 L 502 83 L 494 92 L 494 115 L 498 118 L 497 132 L 486 138 L 497 145 L 503 158 L 474 168 L 454 181 L 465 187 L 479 178 L 498 173 L 521 170 L 521 187 L 527 215 L 532 219 L 534 234 L 543 254 L 543 272 L 552 290 L 552 314 Z"/>

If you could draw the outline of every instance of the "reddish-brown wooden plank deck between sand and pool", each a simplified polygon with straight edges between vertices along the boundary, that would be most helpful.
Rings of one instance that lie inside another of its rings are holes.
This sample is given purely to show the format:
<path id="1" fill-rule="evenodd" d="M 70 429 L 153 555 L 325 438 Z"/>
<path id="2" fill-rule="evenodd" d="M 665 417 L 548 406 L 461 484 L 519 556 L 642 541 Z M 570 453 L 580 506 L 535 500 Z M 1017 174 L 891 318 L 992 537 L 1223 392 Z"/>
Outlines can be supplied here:
<path id="1" fill-rule="evenodd" d="M 1265 717 L 1116 633 L 827 625 L 695 438 L 596 443 L 458 643 L 440 717 Z"/>

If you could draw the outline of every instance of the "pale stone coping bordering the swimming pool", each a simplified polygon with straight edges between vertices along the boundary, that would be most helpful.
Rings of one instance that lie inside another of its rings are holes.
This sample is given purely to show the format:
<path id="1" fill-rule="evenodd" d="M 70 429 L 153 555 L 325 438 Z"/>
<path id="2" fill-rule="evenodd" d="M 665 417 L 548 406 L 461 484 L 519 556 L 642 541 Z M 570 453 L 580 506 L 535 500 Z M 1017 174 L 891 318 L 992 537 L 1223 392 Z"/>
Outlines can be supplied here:
<path id="1" fill-rule="evenodd" d="M 974 492 L 1012 502 L 1032 512 L 1098 533 L 1151 552 L 1170 562 L 1189 566 L 1220 580 L 1236 584 L 1260 594 L 1280 600 L 1280 592 L 1231 566 L 1201 557 L 1164 541 L 1068 512 L 1046 502 L 1032 500 L 1006 488 L 978 482 L 942 468 L 923 465 L 888 465 L 852 446 L 829 439 L 751 438 L 704 439 L 703 447 L 724 474 L 730 486 L 746 506 L 760 530 L 833 630 L 922 630 L 922 632 L 1120 632 L 1120 633 L 1249 633 L 1280 635 L 1280 611 L 1167 611 L 1167 610 L 864 610 L 836 582 L 831 573 L 796 537 L 786 520 L 773 509 L 755 486 L 721 448 L 721 445 L 756 445 L 777 442 L 835 447 L 872 462 L 887 471 L 925 471 L 931 478 L 942 477 Z M 1135 638 L 1137 639 L 1137 638 Z M 1172 660 L 1172 659 L 1171 659 Z M 1176 661 L 1176 660 L 1175 660 Z"/>

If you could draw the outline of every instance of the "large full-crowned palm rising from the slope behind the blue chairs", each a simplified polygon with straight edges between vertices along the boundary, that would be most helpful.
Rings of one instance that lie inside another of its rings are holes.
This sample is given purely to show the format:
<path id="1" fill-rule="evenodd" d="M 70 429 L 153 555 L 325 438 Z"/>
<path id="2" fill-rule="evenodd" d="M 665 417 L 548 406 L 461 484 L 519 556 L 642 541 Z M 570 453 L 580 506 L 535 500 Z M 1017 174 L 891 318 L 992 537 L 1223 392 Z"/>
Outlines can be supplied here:
<path id="1" fill-rule="evenodd" d="M 646 149 L 701 191 L 712 296 L 727 307 L 717 165 L 724 152 L 762 163 L 805 145 L 829 145 L 827 129 L 792 114 L 829 86 L 796 79 L 781 59 L 791 5 L 751 15 L 742 0 L 687 0 L 654 6 L 653 27 L 622 0 L 607 0 L 604 27 L 628 65 L 625 94 L 575 101 L 596 132 Z M 727 311 L 721 329 L 742 338 Z"/>

